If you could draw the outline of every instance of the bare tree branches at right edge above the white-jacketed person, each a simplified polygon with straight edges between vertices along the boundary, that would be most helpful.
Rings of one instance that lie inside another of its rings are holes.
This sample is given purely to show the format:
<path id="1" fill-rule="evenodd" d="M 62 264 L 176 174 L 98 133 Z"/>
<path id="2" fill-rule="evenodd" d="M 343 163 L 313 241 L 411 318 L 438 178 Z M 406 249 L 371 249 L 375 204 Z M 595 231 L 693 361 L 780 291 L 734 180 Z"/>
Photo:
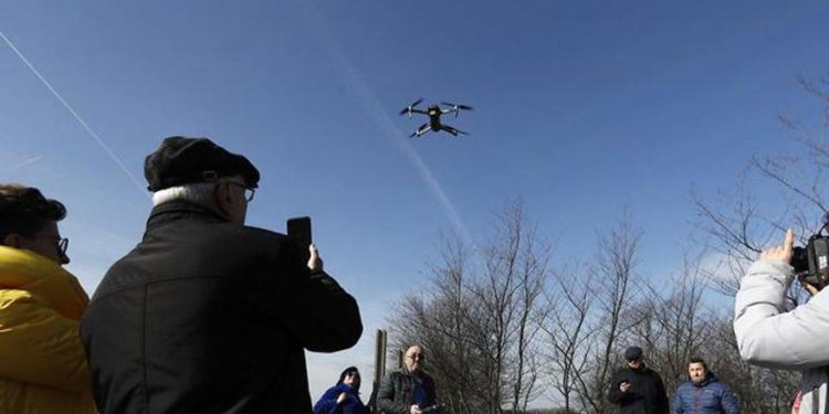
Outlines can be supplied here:
<path id="1" fill-rule="evenodd" d="M 720 254 L 720 272 L 710 275 L 718 291 L 734 296 L 746 266 L 764 246 L 779 243 L 781 231 L 794 227 L 800 242 L 805 242 L 825 224 L 829 211 L 826 184 L 829 176 L 829 82 L 809 81 L 798 76 L 798 83 L 809 95 L 820 102 L 822 119 L 816 130 L 780 116 L 780 121 L 791 134 L 795 145 L 790 153 L 755 155 L 748 170 L 733 193 L 720 193 L 706 199 L 692 192 L 696 209 L 696 226 L 705 235 L 706 246 Z M 784 208 L 773 211 L 760 209 L 749 191 L 748 173 L 757 176 L 755 185 L 775 187 Z M 793 299 L 797 299 L 793 293 Z"/>

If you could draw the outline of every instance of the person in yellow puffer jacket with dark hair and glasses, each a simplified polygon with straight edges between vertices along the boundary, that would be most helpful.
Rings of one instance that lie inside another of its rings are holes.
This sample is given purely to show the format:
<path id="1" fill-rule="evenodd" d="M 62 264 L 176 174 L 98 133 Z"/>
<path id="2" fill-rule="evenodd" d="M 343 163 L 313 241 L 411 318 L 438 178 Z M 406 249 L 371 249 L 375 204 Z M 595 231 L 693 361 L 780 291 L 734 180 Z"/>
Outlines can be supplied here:
<path id="1" fill-rule="evenodd" d="M 95 412 L 78 337 L 88 304 L 63 269 L 66 209 L 38 189 L 0 184 L 0 413 Z"/>

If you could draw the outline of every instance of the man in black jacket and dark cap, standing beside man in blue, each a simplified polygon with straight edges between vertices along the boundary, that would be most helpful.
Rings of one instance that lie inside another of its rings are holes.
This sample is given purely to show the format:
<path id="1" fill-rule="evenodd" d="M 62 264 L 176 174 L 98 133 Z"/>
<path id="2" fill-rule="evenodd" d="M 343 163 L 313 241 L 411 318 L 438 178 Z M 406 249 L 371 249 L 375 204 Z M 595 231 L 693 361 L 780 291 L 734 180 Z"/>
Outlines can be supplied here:
<path id="1" fill-rule="evenodd" d="M 610 380 L 608 400 L 619 405 L 619 414 L 668 414 L 665 385 L 659 374 L 644 365 L 642 349 L 625 351 L 628 368 Z"/>

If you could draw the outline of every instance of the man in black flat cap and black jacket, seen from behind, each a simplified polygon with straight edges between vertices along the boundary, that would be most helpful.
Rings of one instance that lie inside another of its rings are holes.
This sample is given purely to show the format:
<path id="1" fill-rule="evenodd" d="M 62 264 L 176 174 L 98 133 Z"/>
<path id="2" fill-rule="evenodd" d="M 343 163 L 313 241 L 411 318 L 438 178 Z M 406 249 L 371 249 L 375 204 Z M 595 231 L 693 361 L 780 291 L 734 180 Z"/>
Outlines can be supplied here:
<path id="1" fill-rule="evenodd" d="M 355 299 L 282 234 L 244 225 L 259 171 L 206 138 L 145 161 L 153 212 L 81 337 L 102 414 L 311 413 L 305 350 L 350 348 Z"/>

